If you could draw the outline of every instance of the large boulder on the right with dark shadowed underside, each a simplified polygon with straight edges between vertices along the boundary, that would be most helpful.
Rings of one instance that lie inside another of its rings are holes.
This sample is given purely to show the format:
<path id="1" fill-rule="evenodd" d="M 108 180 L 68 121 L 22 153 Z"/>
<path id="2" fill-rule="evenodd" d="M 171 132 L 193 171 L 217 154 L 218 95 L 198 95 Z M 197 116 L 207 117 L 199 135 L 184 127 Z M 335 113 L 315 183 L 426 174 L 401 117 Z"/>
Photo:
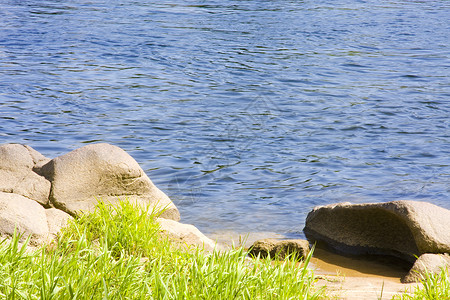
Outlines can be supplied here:
<path id="1" fill-rule="evenodd" d="M 409 262 L 450 252 L 450 211 L 418 201 L 340 203 L 314 208 L 304 232 L 347 254 L 391 255 Z"/>

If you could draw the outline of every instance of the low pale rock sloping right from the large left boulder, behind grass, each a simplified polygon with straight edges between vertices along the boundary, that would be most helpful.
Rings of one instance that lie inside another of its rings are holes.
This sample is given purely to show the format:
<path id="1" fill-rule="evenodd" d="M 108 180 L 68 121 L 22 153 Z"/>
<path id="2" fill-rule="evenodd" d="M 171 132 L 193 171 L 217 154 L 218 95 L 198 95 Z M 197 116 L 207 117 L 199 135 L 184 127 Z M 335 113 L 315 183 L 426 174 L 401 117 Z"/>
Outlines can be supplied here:
<path id="1" fill-rule="evenodd" d="M 161 226 L 161 232 L 172 242 L 181 246 L 201 247 L 208 252 L 217 249 L 216 243 L 201 233 L 194 225 L 163 218 L 158 218 L 157 222 Z"/>

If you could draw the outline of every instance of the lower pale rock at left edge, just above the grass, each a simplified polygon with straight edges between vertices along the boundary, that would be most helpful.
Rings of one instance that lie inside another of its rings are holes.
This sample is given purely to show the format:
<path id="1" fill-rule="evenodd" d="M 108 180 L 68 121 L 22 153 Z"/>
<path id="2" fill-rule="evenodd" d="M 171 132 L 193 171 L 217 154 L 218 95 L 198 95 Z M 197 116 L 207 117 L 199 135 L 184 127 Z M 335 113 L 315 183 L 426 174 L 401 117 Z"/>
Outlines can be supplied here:
<path id="1" fill-rule="evenodd" d="M 32 244 L 46 241 L 49 229 L 45 209 L 23 196 L 0 192 L 0 233 L 3 237 L 10 237 L 15 229 L 23 234 L 21 241 L 30 235 Z"/>

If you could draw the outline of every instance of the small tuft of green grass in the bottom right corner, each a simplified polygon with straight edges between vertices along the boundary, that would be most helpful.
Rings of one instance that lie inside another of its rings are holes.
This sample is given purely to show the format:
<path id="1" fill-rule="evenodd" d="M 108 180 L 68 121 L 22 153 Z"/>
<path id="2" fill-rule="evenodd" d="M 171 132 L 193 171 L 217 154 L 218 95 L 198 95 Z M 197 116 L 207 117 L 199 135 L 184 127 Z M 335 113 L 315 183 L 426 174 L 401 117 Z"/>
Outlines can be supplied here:
<path id="1" fill-rule="evenodd" d="M 449 300 L 450 278 L 448 269 L 442 268 L 440 273 L 426 273 L 421 285 L 413 293 L 396 295 L 393 299 L 399 300 Z"/>

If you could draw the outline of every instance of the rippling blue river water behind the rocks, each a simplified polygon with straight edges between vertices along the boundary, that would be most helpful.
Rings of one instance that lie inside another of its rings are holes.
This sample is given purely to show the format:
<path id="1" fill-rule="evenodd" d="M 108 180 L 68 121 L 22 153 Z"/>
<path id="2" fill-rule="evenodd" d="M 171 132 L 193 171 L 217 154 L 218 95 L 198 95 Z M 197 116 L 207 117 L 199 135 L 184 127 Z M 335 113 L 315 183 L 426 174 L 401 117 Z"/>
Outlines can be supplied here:
<path id="1" fill-rule="evenodd" d="M 0 142 L 128 151 L 204 232 L 450 208 L 449 1 L 3 1 Z"/>

